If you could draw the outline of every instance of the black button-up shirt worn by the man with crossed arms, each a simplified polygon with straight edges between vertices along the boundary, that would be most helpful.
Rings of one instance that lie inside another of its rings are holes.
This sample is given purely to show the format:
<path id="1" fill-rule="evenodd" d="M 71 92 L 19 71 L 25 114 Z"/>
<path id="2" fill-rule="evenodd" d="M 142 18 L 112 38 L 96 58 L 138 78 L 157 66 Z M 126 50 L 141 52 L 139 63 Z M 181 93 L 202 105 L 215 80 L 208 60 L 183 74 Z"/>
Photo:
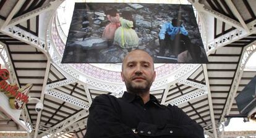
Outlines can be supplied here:
<path id="1" fill-rule="evenodd" d="M 204 138 L 203 128 L 186 113 L 161 105 L 153 95 L 144 104 L 128 92 L 118 99 L 103 94 L 93 100 L 89 113 L 85 138 Z"/>

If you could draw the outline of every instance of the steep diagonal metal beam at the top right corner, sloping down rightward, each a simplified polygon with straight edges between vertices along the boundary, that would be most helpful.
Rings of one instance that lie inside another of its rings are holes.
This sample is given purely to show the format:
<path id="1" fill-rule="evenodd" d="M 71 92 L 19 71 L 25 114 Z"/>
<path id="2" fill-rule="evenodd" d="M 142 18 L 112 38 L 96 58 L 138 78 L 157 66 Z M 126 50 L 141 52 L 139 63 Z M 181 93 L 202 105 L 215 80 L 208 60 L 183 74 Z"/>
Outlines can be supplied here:
<path id="1" fill-rule="evenodd" d="M 244 22 L 244 19 L 242 18 L 241 14 L 236 9 L 236 6 L 234 6 L 233 2 L 231 0 L 226 0 L 226 3 L 228 4 L 229 8 L 233 12 L 233 14 L 237 17 L 241 25 L 244 27 L 246 31 L 250 31 L 246 23 Z"/>

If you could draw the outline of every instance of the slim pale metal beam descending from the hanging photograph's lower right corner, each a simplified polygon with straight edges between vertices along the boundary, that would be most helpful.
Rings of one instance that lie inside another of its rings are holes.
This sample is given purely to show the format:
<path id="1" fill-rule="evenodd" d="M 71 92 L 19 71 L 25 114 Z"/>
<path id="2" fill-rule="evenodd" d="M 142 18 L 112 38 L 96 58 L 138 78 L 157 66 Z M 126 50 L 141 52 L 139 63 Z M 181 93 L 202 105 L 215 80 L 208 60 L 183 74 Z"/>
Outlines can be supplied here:
<path id="1" fill-rule="evenodd" d="M 210 83 L 209 83 L 209 79 L 208 79 L 208 71 L 207 71 L 207 65 L 203 64 L 203 75 L 205 76 L 205 83 L 207 86 L 207 97 L 208 97 L 208 105 L 210 108 L 210 116 L 211 116 L 211 124 L 212 124 L 212 128 L 213 128 L 213 136 L 215 138 L 218 138 L 217 135 L 217 131 L 216 131 L 216 123 L 215 123 L 215 116 L 214 116 L 214 112 L 213 112 L 213 102 L 211 101 L 211 90 L 210 90 Z"/>

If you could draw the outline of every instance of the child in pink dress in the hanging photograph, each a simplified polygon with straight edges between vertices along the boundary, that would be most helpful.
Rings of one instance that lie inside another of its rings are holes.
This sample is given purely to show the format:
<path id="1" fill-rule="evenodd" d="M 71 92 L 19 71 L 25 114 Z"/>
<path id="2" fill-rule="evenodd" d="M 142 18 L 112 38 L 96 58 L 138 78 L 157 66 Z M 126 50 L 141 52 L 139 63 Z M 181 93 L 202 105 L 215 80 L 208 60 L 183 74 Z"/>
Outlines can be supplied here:
<path id="1" fill-rule="evenodd" d="M 109 20 L 109 24 L 106 25 L 102 38 L 108 39 L 108 40 L 113 40 L 114 39 L 114 33 L 116 29 L 121 25 L 119 19 L 120 16 L 117 13 L 116 9 L 111 9 L 106 12 L 107 18 Z"/>

